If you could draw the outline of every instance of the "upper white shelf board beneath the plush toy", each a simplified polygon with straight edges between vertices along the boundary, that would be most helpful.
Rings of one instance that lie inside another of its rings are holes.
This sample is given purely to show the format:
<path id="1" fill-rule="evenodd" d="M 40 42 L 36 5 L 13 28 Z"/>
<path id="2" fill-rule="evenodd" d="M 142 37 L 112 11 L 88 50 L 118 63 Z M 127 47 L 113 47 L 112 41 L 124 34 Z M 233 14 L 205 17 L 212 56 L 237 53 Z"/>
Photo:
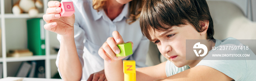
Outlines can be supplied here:
<path id="1" fill-rule="evenodd" d="M 43 18 L 43 15 L 44 15 L 44 13 L 39 13 L 37 15 L 37 17 L 33 17 L 33 18 Z M 5 13 L 4 18 L 32 18 L 32 17 L 29 17 L 29 14 L 27 14 L 27 13 L 22 13 L 20 15 L 14 15 L 12 13 Z"/>

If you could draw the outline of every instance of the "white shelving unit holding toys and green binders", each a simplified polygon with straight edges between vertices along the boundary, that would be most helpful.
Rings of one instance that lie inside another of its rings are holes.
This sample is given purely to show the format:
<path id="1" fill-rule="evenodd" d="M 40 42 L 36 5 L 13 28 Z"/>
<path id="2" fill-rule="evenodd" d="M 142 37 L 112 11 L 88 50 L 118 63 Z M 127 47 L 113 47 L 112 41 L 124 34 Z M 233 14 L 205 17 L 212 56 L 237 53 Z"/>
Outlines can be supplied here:
<path id="1" fill-rule="evenodd" d="M 50 54 L 50 48 L 52 48 L 53 46 L 51 46 L 50 44 L 50 41 L 57 41 L 57 39 L 50 39 L 50 38 L 53 38 L 53 37 L 50 37 L 49 35 L 52 35 L 52 34 L 55 34 L 55 33 L 50 33 L 49 31 L 46 31 L 45 33 L 45 45 L 46 45 L 46 52 L 45 52 L 45 55 L 41 55 L 41 56 L 23 56 L 23 57 L 6 57 L 6 54 L 7 54 L 7 51 L 9 50 L 7 48 L 8 44 L 7 42 L 10 42 L 10 39 L 8 40 L 7 39 L 7 35 L 6 32 L 7 31 L 7 27 L 6 25 L 6 22 L 7 20 L 17 20 L 17 19 L 29 19 L 29 15 L 27 13 L 23 13 L 23 14 L 20 14 L 19 16 L 15 16 L 14 14 L 12 13 L 6 13 L 5 12 L 5 9 L 11 9 L 9 7 L 11 6 L 8 6 L 8 8 L 6 7 L 7 5 L 10 5 L 10 4 L 5 4 L 5 1 L 7 0 L 0 0 L 0 18 L 1 18 L 1 50 L 2 50 L 2 57 L 0 57 L 0 63 L 3 63 L 3 78 L 4 77 L 8 77 L 7 76 L 7 63 L 8 62 L 19 62 L 19 61 L 33 61 L 33 60 L 45 60 L 45 77 L 46 78 L 51 78 L 51 63 L 50 63 L 50 60 L 56 60 L 56 57 L 57 57 L 57 53 L 55 54 Z M 35 18 L 42 18 L 46 9 L 48 8 L 47 4 L 48 4 L 48 1 L 49 0 L 41 0 L 43 3 L 44 3 L 44 9 L 43 9 L 43 12 L 39 13 L 37 17 Z M 60 0 L 59 0 L 60 1 Z M 26 21 L 23 21 L 23 22 L 26 22 Z M 23 23 L 21 22 L 21 23 Z M 14 23 L 15 24 L 15 23 Z M 24 25 L 24 24 L 23 24 Z M 26 25 L 26 24 L 25 24 Z M 9 28 L 10 29 L 10 28 Z M 10 30 L 9 30 L 10 31 Z M 24 32 L 24 31 L 20 31 L 20 32 Z M 14 32 L 13 32 L 14 33 Z M 56 35 L 56 34 L 55 34 Z M 56 37 L 55 37 L 56 38 Z M 25 39 L 26 40 L 26 39 Z M 11 47 L 11 46 L 10 46 Z M 27 46 L 19 46 L 19 47 L 27 47 Z M 17 66 L 19 67 L 19 66 Z M 56 66 L 55 66 L 56 67 Z"/>

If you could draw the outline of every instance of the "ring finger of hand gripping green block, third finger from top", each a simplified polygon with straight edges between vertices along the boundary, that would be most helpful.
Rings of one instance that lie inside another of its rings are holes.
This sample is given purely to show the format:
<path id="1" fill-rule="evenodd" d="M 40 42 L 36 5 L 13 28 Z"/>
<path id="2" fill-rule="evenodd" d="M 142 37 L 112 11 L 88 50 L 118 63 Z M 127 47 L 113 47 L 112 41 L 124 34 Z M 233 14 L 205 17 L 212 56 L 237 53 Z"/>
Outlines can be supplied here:
<path id="1" fill-rule="evenodd" d="M 110 48 L 109 44 L 107 42 L 103 43 L 102 48 L 104 49 L 104 51 L 108 54 L 108 56 L 111 59 L 116 60 L 116 54 L 112 51 L 112 49 Z"/>

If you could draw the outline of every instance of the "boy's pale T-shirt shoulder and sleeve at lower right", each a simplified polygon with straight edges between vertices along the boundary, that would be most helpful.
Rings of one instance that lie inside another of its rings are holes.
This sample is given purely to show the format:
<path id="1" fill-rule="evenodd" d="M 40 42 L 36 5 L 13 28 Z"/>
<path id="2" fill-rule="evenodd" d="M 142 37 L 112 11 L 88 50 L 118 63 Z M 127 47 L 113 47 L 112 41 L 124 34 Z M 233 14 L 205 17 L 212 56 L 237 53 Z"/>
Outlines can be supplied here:
<path id="1" fill-rule="evenodd" d="M 245 48 L 244 46 L 240 40 L 235 38 L 230 37 L 222 41 L 216 39 L 216 50 L 211 50 L 196 66 L 204 65 L 214 68 L 236 81 L 255 81 L 254 76 L 248 75 L 248 73 L 252 75 L 256 74 L 249 72 L 256 71 L 256 55 L 251 49 L 248 48 L 246 50 L 246 46 Z M 234 47 L 236 47 L 236 50 Z"/>

